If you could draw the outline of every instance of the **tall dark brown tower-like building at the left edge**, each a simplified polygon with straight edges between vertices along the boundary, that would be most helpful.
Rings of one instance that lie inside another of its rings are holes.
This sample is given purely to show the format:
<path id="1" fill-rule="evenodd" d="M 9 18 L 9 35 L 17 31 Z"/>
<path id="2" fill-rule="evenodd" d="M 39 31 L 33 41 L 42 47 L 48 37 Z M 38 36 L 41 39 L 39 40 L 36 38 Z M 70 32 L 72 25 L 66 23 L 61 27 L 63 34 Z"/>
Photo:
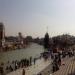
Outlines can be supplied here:
<path id="1" fill-rule="evenodd" d="M 3 47 L 5 43 L 5 28 L 3 23 L 0 23 L 0 47 Z"/>

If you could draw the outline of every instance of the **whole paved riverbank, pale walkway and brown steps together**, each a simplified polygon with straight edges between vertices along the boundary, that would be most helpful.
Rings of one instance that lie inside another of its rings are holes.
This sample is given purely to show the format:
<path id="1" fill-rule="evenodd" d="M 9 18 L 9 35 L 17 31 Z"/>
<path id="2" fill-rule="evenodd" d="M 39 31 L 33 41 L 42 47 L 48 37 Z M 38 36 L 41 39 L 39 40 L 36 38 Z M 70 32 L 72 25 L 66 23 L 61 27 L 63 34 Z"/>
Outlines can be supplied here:
<path id="1" fill-rule="evenodd" d="M 39 75 L 40 73 L 42 75 L 50 75 L 50 74 L 51 75 L 68 75 L 68 72 L 69 72 L 69 71 L 67 71 L 68 67 L 69 67 L 68 70 L 70 70 L 70 72 L 71 72 L 71 70 L 74 71 L 74 69 L 72 69 L 73 61 L 74 61 L 73 57 L 71 57 L 71 58 L 66 57 L 66 58 L 62 59 L 62 64 L 60 66 L 60 69 L 58 71 L 52 73 L 52 60 L 48 59 L 47 61 L 44 61 L 44 59 L 42 58 L 42 59 L 37 60 L 35 65 L 32 65 L 28 68 L 20 68 L 20 69 L 14 71 L 14 72 L 11 72 L 7 75 L 22 75 L 23 69 L 26 72 L 25 75 Z"/>

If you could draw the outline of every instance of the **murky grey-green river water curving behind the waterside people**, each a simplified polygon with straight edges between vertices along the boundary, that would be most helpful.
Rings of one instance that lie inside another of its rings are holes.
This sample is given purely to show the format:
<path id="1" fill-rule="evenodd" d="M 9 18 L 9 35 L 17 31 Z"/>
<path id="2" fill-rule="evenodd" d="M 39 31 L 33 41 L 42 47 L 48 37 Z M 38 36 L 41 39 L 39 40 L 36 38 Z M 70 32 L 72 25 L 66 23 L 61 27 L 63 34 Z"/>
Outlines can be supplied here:
<path id="1" fill-rule="evenodd" d="M 13 50 L 8 52 L 0 53 L 0 62 L 6 63 L 8 61 L 12 62 L 15 60 L 21 60 L 23 58 L 29 59 L 40 56 L 40 53 L 44 52 L 43 46 L 36 43 L 32 43 L 26 49 Z"/>

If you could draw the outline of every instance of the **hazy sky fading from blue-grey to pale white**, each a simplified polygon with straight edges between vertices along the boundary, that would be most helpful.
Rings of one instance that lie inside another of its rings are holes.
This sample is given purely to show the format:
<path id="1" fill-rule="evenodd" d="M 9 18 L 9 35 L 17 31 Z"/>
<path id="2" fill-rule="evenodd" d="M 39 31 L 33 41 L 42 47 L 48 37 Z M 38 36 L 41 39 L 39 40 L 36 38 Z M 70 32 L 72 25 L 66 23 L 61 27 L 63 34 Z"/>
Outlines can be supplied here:
<path id="1" fill-rule="evenodd" d="M 75 0 L 0 0 L 6 35 L 75 35 Z"/>

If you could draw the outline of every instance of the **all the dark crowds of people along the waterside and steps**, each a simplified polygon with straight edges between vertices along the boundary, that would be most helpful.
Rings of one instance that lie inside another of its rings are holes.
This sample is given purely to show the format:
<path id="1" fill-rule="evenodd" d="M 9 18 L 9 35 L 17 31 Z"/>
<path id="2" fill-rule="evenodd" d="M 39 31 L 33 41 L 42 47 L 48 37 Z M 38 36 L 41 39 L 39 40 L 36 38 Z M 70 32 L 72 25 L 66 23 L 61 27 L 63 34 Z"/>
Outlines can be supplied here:
<path id="1" fill-rule="evenodd" d="M 43 53 L 43 55 L 41 55 L 45 60 L 48 59 L 49 56 L 51 56 L 52 60 L 53 60 L 53 72 L 59 70 L 60 66 L 61 66 L 61 59 L 62 58 L 65 58 L 66 56 L 69 56 L 69 57 L 72 57 L 74 55 L 74 51 L 72 50 L 69 50 L 67 51 L 67 53 L 65 51 L 62 51 L 62 53 L 60 52 L 55 52 L 53 54 L 51 54 L 50 52 L 45 52 Z M 38 58 L 41 58 L 38 57 Z M 62 56 L 62 57 L 61 57 Z M 29 59 L 22 59 L 20 61 L 12 61 L 12 63 L 10 65 L 6 65 L 6 68 L 5 68 L 5 73 L 9 73 L 9 72 L 12 72 L 14 70 L 17 70 L 19 68 L 26 68 L 28 66 L 31 66 L 32 65 L 32 62 L 34 63 L 34 65 L 36 64 L 36 60 L 38 58 L 32 58 L 30 57 Z M 9 64 L 9 62 L 8 62 Z M 0 67 L 0 73 L 1 75 L 4 74 L 4 71 L 3 71 L 3 67 Z M 22 75 L 25 75 L 25 70 L 23 69 L 23 74 Z"/>

